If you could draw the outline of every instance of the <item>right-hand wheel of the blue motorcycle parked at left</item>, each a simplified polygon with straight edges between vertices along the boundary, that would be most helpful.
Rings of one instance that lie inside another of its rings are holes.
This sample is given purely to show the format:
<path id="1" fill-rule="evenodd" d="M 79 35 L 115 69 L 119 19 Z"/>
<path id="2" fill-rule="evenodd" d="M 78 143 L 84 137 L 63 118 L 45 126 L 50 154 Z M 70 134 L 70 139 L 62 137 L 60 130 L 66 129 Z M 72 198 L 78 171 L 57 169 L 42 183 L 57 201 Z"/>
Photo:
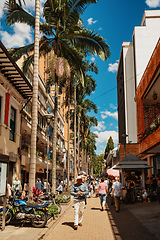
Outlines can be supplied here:
<path id="1" fill-rule="evenodd" d="M 47 223 L 47 214 L 45 213 L 45 211 L 43 211 L 42 209 L 34 209 L 35 213 L 35 217 L 32 218 L 32 226 L 36 227 L 36 228 L 42 228 L 46 225 Z"/>

